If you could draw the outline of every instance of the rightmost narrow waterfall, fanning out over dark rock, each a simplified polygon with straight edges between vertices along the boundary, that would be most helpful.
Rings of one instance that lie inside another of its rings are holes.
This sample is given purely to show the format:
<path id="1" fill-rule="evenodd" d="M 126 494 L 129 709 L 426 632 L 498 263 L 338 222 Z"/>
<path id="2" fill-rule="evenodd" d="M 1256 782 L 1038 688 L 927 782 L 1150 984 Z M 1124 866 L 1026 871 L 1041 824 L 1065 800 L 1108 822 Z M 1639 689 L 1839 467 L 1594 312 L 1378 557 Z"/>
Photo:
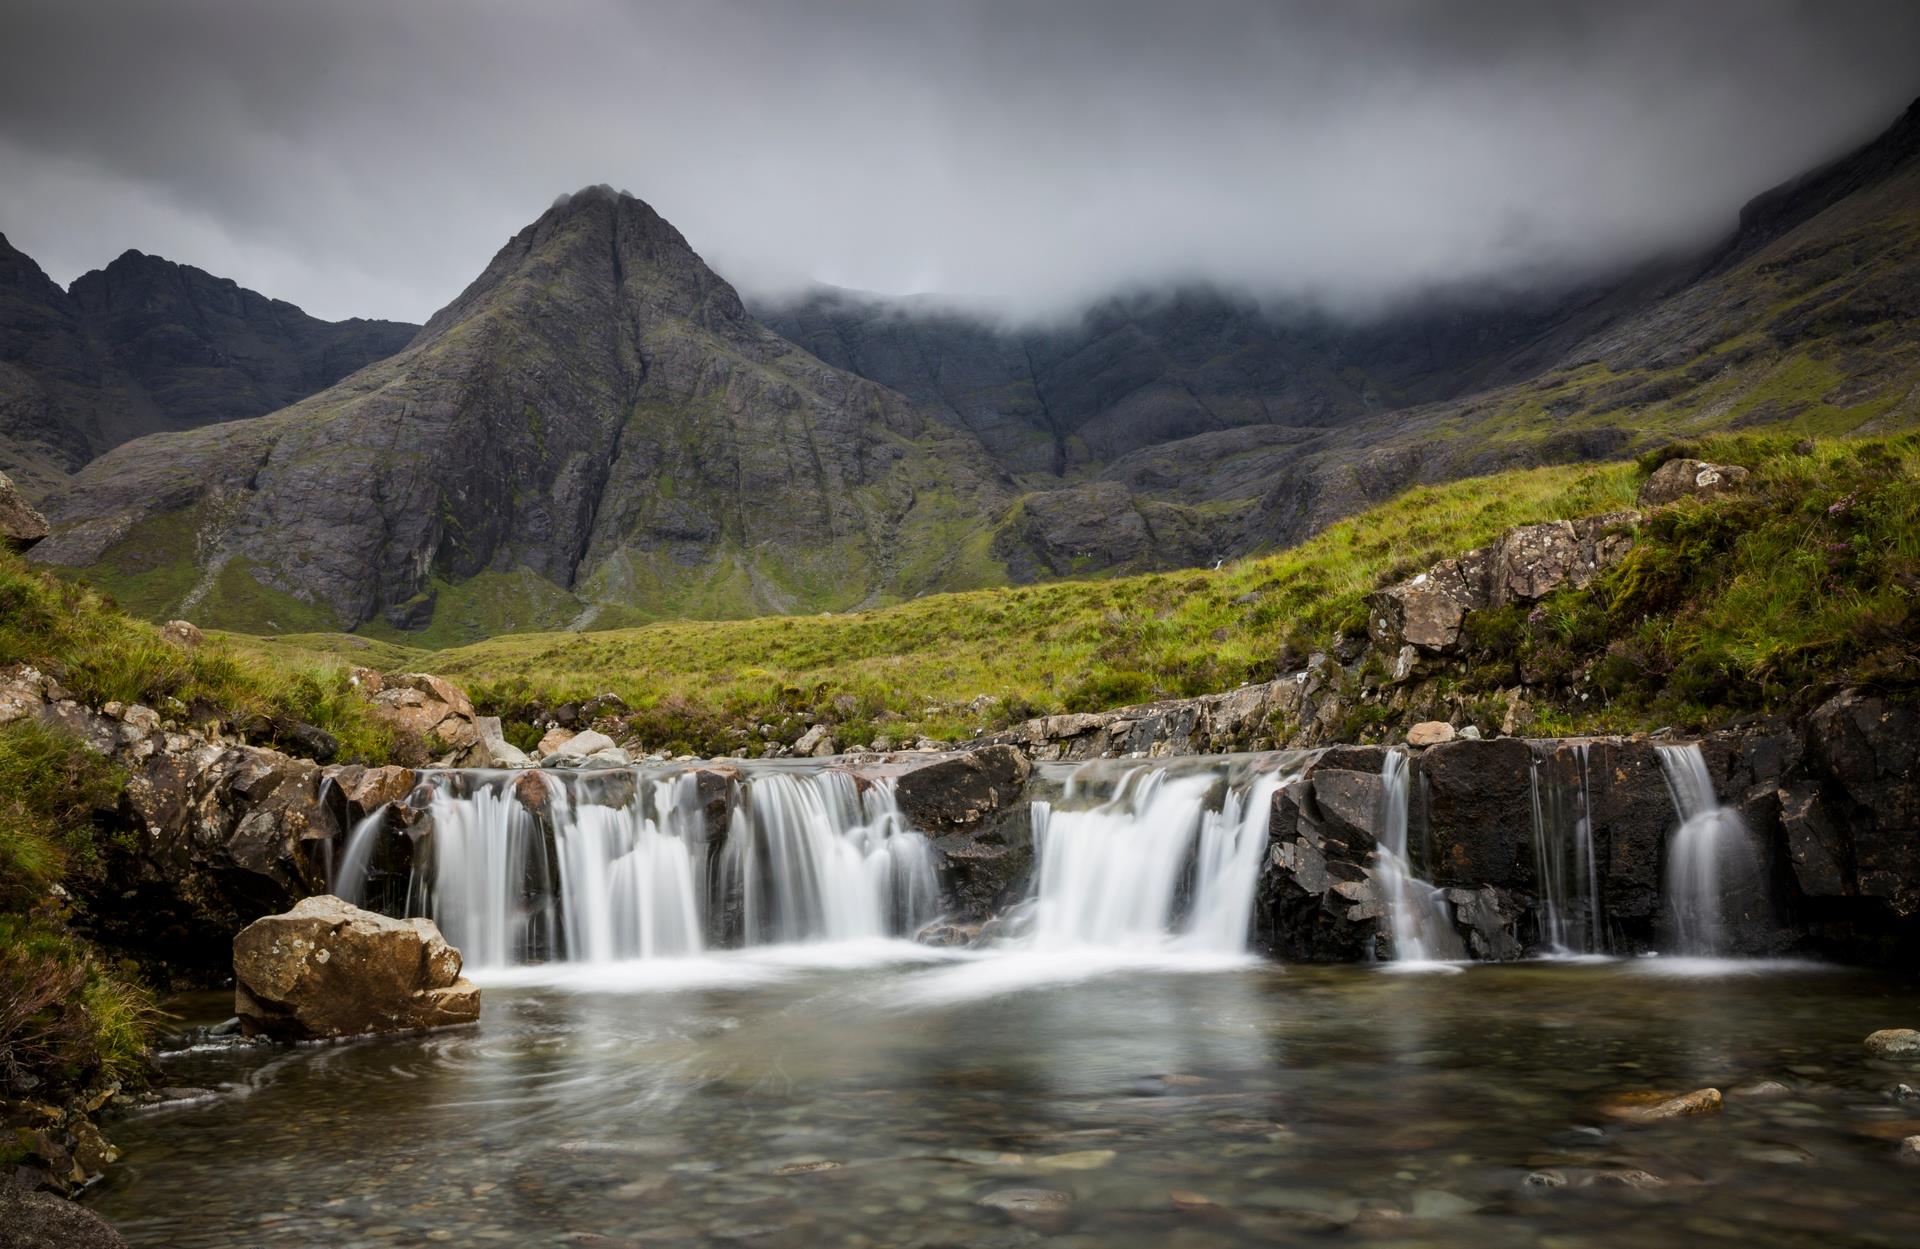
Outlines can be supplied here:
<path id="1" fill-rule="evenodd" d="M 1753 867 L 1740 813 L 1720 806 L 1697 744 L 1659 746 L 1661 771 L 1680 827 L 1667 840 L 1667 906 L 1678 954 L 1713 955 L 1724 946 L 1726 886 Z"/>

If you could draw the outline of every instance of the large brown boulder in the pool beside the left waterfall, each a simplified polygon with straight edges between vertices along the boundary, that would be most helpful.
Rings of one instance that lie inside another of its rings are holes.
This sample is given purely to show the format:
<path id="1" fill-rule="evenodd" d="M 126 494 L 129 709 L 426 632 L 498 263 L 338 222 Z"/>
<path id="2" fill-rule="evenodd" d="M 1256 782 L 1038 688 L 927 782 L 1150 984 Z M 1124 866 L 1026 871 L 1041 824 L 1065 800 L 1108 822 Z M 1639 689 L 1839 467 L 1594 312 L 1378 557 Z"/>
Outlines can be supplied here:
<path id="1" fill-rule="evenodd" d="M 434 921 L 319 896 L 234 938 L 234 1013 L 275 1040 L 411 1032 L 474 1023 L 480 990 Z"/>

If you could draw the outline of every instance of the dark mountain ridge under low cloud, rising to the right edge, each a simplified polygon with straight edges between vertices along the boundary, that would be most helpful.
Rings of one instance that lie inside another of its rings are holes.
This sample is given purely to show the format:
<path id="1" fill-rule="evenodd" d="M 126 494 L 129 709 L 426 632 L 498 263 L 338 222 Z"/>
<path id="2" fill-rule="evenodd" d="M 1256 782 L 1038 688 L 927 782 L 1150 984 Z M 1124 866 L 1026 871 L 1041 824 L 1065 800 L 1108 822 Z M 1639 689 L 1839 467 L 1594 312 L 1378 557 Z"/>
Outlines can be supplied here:
<path id="1" fill-rule="evenodd" d="M 1014 330 L 843 290 L 758 313 L 981 437 L 1031 491 L 1016 576 L 1135 570 L 1292 543 L 1417 482 L 1720 428 L 1920 424 L 1916 205 L 1920 102 L 1707 255 L 1548 295 L 1359 324 L 1208 290 Z"/>

